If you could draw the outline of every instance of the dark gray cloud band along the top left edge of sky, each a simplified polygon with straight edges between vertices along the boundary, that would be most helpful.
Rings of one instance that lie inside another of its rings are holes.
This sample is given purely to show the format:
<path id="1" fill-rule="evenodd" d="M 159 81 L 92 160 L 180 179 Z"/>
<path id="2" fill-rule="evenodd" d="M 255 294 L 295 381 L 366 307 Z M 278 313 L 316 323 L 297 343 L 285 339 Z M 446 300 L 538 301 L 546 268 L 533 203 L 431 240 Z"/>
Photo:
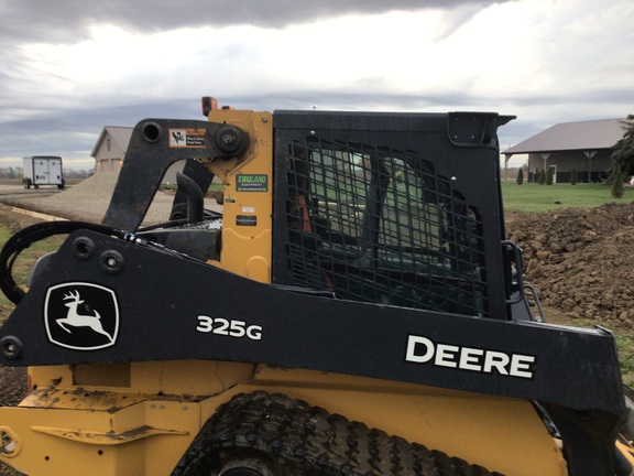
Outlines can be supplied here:
<path id="1" fill-rule="evenodd" d="M 20 0 L 0 4 L 0 40 L 67 43 L 85 37 L 91 25 L 102 23 L 140 32 L 234 24 L 284 28 L 346 14 L 483 7 L 504 1 L 512 0 Z"/>

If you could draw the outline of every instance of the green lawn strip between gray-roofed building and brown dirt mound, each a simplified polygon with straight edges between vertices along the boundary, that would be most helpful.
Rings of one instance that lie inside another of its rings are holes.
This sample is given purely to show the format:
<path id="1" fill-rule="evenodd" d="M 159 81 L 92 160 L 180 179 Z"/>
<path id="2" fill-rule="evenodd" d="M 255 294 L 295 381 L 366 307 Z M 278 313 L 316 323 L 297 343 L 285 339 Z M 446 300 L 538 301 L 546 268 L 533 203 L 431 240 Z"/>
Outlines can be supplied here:
<path id="1" fill-rule="evenodd" d="M 545 213 L 560 208 L 592 208 L 605 203 L 634 201 L 634 188 L 625 188 L 623 197 L 614 198 L 612 187 L 604 184 L 568 183 L 539 185 L 535 183 L 502 182 L 504 209 Z"/>

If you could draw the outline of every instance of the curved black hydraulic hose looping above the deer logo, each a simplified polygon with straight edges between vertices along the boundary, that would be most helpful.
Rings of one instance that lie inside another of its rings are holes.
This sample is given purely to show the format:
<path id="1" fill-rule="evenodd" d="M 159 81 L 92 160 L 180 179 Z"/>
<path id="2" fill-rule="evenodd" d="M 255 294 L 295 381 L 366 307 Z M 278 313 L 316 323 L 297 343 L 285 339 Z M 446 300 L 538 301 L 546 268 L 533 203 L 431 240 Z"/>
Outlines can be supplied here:
<path id="1" fill-rule="evenodd" d="M 20 253 L 36 241 L 55 235 L 68 235 L 78 229 L 88 229 L 108 236 L 124 238 L 129 234 L 114 228 L 84 221 L 46 221 L 26 227 L 13 235 L 0 251 L 0 290 L 14 304 L 24 296 L 12 274 L 13 264 Z"/>

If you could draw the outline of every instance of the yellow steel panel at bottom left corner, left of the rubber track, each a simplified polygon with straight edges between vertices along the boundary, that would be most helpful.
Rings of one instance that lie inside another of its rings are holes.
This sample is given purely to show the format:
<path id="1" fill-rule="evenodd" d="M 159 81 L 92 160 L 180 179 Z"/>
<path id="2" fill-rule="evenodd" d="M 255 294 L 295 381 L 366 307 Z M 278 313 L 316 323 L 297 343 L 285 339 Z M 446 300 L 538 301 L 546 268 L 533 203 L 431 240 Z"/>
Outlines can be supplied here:
<path id="1" fill-rule="evenodd" d="M 198 410 L 165 401 L 110 412 L 0 408 L 0 421 L 24 442 L 0 461 L 30 475 L 167 475 L 199 430 Z"/>

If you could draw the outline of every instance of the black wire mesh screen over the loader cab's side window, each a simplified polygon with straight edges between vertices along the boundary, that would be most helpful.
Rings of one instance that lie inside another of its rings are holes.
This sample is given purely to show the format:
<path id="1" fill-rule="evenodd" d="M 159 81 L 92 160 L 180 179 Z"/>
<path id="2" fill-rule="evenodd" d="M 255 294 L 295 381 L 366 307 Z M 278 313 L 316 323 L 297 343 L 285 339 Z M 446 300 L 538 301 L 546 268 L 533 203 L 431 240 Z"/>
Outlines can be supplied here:
<path id="1" fill-rule="evenodd" d="M 341 299 L 487 316 L 482 224 L 414 151 L 308 140 L 288 153 L 295 284 Z"/>

